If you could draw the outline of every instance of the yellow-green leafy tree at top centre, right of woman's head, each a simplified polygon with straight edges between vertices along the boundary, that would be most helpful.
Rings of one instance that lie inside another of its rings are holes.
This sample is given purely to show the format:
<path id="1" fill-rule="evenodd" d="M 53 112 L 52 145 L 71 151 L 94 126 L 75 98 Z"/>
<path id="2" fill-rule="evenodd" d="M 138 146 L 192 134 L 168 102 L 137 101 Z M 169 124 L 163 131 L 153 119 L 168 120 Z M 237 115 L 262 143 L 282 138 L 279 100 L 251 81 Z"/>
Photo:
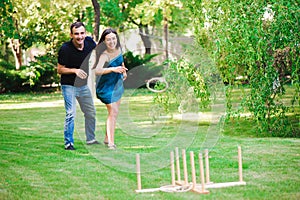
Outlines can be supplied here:
<path id="1" fill-rule="evenodd" d="M 138 27 L 145 54 L 151 54 L 151 27 L 159 30 L 165 27 L 167 41 L 168 29 L 182 31 L 190 22 L 189 18 L 182 17 L 189 15 L 179 0 L 111 0 L 100 1 L 100 5 L 102 25 L 120 27 L 120 30 Z"/>

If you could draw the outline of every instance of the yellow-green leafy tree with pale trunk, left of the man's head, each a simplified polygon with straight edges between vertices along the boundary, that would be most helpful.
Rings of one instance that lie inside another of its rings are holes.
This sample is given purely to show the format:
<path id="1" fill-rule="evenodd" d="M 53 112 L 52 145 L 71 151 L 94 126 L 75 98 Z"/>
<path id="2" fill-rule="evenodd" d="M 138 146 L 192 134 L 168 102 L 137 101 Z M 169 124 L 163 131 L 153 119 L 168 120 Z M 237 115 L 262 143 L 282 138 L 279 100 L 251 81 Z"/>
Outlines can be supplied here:
<path id="1" fill-rule="evenodd" d="M 61 42 L 68 38 L 70 23 L 83 20 L 85 7 L 82 5 L 88 6 L 87 2 L 5 0 L 1 4 L 5 22 L 1 28 L 4 36 L 1 41 L 10 41 L 16 67 L 23 64 L 22 50 L 35 44 L 45 45 L 47 51 L 54 55 Z"/>

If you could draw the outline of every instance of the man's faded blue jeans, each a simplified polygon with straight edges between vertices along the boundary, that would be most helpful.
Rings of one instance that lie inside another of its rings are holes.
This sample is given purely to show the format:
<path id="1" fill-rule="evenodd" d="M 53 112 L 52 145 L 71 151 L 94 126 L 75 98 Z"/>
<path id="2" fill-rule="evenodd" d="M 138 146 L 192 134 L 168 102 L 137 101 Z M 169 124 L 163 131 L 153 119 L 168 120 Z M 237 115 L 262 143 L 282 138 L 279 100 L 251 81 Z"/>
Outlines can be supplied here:
<path id="1" fill-rule="evenodd" d="M 76 99 L 84 113 L 86 141 L 95 139 L 96 111 L 91 91 L 87 85 L 74 87 L 62 85 L 62 95 L 65 101 L 66 118 L 64 125 L 65 147 L 74 145 L 74 121 L 76 116 Z"/>

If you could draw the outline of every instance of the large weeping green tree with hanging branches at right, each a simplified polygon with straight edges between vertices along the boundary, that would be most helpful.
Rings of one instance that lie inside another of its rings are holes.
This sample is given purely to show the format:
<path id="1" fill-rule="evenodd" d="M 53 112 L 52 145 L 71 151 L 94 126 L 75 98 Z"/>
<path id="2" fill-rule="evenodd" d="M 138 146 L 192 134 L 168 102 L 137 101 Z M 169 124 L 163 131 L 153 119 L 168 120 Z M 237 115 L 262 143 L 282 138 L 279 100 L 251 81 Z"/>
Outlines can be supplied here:
<path id="1" fill-rule="evenodd" d="M 244 98 L 242 110 L 253 114 L 261 132 L 268 130 L 272 136 L 294 132 L 281 97 L 286 81 L 291 82 L 295 87 L 292 103 L 299 105 L 299 3 L 187 3 L 195 18 L 196 40 L 215 59 L 223 81 L 235 84 L 237 76 L 248 77 L 251 93 Z"/>

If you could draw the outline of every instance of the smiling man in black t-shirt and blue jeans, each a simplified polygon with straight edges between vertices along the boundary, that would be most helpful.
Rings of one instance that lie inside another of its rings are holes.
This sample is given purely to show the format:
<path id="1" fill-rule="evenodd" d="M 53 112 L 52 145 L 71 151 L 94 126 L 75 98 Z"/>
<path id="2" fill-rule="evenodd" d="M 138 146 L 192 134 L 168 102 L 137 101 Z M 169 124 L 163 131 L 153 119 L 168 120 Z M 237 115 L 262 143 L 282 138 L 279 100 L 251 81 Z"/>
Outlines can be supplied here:
<path id="1" fill-rule="evenodd" d="M 65 101 L 66 118 L 64 140 L 66 150 L 74 148 L 74 121 L 76 116 L 76 100 L 85 118 L 85 134 L 87 144 L 99 144 L 95 139 L 96 111 L 93 96 L 87 85 L 89 66 L 87 64 L 91 51 L 96 43 L 86 36 L 82 22 L 75 22 L 70 27 L 71 40 L 65 42 L 58 52 L 57 72 L 61 75 L 61 89 Z"/>

